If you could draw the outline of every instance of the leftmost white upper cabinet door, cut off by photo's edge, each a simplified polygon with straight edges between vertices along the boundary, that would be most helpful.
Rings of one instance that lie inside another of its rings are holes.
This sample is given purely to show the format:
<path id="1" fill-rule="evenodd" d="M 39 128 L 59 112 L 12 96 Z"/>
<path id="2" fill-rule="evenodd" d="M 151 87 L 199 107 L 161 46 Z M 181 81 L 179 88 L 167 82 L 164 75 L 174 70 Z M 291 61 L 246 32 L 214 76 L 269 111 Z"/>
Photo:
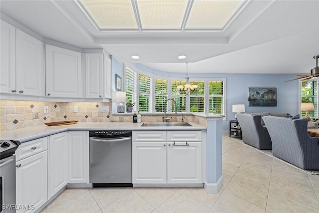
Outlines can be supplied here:
<path id="1" fill-rule="evenodd" d="M 2 21 L 0 48 L 0 92 L 14 94 L 15 88 L 15 27 Z"/>

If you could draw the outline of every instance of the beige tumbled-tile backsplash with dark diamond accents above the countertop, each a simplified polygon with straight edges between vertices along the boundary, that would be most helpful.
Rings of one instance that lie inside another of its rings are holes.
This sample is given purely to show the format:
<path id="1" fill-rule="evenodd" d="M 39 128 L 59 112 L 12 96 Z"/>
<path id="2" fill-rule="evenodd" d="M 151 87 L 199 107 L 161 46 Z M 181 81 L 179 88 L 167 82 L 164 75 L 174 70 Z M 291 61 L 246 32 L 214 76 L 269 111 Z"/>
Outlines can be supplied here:
<path id="1" fill-rule="evenodd" d="M 44 113 L 48 106 L 48 113 Z M 78 112 L 74 112 L 74 106 Z M 110 112 L 101 112 L 101 106 L 109 106 Z M 132 116 L 112 115 L 112 102 L 41 102 L 0 100 L 0 131 L 42 125 L 47 122 L 77 120 L 79 122 L 132 122 Z M 142 122 L 161 122 L 160 115 L 143 115 Z M 169 115 L 171 122 L 180 122 L 181 114 Z M 185 122 L 206 126 L 206 119 L 184 115 Z"/>

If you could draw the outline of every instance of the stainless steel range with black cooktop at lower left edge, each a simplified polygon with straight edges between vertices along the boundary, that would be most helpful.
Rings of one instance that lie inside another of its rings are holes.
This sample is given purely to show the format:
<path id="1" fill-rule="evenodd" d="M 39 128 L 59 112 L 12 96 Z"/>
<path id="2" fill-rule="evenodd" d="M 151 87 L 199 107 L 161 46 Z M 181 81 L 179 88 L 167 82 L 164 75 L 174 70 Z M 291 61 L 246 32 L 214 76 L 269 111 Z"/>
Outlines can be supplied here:
<path id="1" fill-rule="evenodd" d="M 0 140 L 0 213 L 15 213 L 15 155 L 19 141 Z"/>

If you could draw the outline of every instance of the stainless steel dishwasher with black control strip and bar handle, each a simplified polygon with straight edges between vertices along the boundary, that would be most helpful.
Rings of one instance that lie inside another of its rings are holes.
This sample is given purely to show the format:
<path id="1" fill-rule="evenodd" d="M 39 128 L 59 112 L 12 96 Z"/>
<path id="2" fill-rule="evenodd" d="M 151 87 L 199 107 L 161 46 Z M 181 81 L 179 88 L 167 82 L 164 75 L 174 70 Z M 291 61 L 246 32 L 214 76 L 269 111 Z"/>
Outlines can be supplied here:
<path id="1" fill-rule="evenodd" d="M 93 187 L 132 187 L 132 131 L 89 131 Z"/>

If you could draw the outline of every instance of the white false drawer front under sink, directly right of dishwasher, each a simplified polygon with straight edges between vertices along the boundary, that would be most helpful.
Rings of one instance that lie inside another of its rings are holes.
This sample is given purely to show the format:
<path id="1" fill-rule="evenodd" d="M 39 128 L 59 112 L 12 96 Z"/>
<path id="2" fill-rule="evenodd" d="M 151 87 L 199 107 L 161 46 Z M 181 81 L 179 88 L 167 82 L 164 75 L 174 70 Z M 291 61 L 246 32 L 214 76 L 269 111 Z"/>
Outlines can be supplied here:
<path id="1" fill-rule="evenodd" d="M 132 133 L 133 142 L 166 142 L 166 131 L 136 131 Z"/>

